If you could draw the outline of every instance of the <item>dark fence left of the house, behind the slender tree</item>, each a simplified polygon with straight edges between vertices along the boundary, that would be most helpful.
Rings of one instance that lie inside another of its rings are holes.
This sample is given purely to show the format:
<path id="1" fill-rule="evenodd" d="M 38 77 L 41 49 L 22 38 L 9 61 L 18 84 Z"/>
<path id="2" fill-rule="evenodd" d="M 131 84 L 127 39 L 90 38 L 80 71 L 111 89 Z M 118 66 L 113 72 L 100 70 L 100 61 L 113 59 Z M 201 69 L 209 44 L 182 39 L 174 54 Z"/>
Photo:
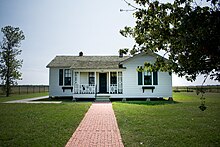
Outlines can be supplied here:
<path id="1" fill-rule="evenodd" d="M 0 85 L 0 94 L 3 94 L 3 86 Z M 24 93 L 41 93 L 48 92 L 48 85 L 15 85 L 12 86 L 12 94 L 24 94 Z"/>

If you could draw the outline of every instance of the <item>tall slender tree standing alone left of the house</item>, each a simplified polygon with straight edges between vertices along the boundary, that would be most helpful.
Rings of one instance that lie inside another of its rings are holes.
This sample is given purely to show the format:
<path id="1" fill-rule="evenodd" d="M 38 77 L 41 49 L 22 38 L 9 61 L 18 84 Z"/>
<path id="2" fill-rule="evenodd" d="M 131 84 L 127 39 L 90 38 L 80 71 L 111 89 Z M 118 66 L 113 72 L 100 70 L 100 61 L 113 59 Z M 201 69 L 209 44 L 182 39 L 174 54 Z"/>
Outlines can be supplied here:
<path id="1" fill-rule="evenodd" d="M 23 32 L 19 28 L 6 26 L 1 29 L 3 40 L 0 50 L 0 77 L 3 89 L 8 97 L 11 92 L 11 86 L 16 84 L 16 80 L 20 80 L 23 60 L 17 59 L 17 55 L 21 54 L 19 49 L 21 41 L 25 39 Z"/>

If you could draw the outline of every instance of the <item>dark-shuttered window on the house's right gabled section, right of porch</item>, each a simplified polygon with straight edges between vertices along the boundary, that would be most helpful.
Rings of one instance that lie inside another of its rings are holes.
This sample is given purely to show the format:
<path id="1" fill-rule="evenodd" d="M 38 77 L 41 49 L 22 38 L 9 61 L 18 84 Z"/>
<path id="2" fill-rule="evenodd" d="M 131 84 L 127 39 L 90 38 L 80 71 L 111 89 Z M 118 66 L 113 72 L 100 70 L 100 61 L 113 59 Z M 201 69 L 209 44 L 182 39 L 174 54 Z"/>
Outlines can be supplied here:
<path id="1" fill-rule="evenodd" d="M 158 85 L 158 73 L 138 71 L 138 85 Z"/>

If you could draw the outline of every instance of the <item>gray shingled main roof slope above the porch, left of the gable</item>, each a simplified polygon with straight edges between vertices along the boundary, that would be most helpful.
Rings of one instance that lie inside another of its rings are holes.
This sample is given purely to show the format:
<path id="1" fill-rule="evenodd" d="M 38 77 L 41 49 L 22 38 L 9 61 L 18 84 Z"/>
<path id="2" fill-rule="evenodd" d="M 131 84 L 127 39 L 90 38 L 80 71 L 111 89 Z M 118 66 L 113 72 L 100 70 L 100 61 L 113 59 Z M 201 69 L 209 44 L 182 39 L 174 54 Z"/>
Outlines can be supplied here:
<path id="1" fill-rule="evenodd" d="M 56 56 L 47 68 L 118 69 L 119 63 L 130 56 Z"/>

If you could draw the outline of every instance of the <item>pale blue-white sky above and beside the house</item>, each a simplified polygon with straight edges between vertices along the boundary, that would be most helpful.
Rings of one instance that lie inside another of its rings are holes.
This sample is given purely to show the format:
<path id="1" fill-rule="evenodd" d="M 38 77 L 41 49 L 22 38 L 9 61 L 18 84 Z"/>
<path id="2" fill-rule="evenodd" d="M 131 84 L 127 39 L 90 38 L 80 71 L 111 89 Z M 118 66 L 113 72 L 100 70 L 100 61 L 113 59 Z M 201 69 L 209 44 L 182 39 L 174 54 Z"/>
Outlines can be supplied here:
<path id="1" fill-rule="evenodd" d="M 118 55 L 120 48 L 131 48 L 133 40 L 119 31 L 135 19 L 120 9 L 129 9 L 123 0 L 0 0 L 0 28 L 19 27 L 26 37 L 18 83 L 48 84 L 46 65 L 56 55 Z M 202 79 L 191 83 L 173 75 L 173 85 L 200 85 Z"/>

